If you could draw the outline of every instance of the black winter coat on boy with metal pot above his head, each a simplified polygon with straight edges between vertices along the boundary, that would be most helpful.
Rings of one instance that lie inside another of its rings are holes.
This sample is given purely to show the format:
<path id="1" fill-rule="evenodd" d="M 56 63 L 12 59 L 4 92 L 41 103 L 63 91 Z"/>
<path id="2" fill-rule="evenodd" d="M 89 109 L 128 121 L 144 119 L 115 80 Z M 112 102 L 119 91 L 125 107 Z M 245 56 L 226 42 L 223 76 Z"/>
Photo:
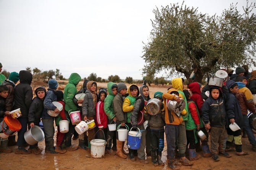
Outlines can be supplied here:
<path id="1" fill-rule="evenodd" d="M 214 88 L 219 89 L 215 86 Z M 202 107 L 202 120 L 205 124 L 211 123 L 212 127 L 223 127 L 226 125 L 226 111 L 224 97 L 219 89 L 219 97 L 214 99 L 211 95 L 212 87 L 210 88 L 209 98 L 204 102 Z"/>

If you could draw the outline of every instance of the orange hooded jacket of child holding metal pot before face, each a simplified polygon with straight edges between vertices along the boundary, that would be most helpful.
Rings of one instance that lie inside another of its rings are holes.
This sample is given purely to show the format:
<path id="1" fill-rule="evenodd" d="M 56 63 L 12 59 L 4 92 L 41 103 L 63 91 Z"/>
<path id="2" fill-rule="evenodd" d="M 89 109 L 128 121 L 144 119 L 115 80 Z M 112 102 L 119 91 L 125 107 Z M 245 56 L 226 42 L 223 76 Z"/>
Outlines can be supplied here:
<path id="1" fill-rule="evenodd" d="M 172 125 L 180 125 L 181 122 L 183 121 L 182 116 L 178 117 L 173 111 L 168 110 L 167 108 L 167 102 L 166 99 L 168 100 L 175 100 L 176 96 L 172 94 L 172 92 L 177 92 L 176 89 L 169 89 L 167 93 L 163 94 L 163 100 L 164 100 L 164 109 L 165 109 L 165 123 L 166 124 L 172 124 Z M 182 95 L 179 93 L 179 97 L 181 98 Z M 187 111 L 184 109 L 181 111 L 181 115 L 187 114 Z"/>

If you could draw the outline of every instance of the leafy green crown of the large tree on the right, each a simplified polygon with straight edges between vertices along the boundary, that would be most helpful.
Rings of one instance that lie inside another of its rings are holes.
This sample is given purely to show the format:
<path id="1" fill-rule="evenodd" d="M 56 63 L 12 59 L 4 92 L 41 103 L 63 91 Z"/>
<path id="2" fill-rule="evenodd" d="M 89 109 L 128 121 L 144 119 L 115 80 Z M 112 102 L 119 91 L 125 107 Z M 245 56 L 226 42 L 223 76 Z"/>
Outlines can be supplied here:
<path id="1" fill-rule="evenodd" d="M 143 75 L 154 78 L 164 70 L 169 78 L 185 75 L 191 81 L 194 71 L 194 81 L 201 83 L 204 75 L 220 68 L 256 65 L 255 3 L 247 1 L 243 13 L 232 3 L 221 16 L 198 13 L 183 3 L 153 10 Z"/>

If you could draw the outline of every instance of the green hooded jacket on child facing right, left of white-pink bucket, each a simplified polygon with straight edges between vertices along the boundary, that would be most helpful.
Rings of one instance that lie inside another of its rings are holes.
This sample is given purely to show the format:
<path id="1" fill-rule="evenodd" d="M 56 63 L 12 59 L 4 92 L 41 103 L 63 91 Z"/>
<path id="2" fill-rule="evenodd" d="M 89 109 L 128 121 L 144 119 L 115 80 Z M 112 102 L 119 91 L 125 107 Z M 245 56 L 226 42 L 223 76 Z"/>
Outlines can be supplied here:
<path id="1" fill-rule="evenodd" d="M 71 73 L 70 78 L 68 80 L 68 84 L 66 84 L 64 92 L 63 92 L 63 100 L 65 102 L 65 111 L 76 111 L 77 105 L 73 102 L 73 98 L 77 94 L 76 85 L 81 80 L 81 76 L 78 73 Z"/>

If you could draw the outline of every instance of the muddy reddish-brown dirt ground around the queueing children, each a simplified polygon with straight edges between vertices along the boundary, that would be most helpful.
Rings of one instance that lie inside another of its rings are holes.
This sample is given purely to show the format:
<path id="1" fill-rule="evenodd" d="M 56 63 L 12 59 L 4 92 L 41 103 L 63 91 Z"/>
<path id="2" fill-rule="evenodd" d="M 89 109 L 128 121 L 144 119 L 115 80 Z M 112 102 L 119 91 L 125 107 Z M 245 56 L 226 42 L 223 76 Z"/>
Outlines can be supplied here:
<path id="1" fill-rule="evenodd" d="M 80 82 L 83 84 L 83 82 Z M 37 86 L 45 84 L 37 83 Z M 107 87 L 107 83 L 98 83 L 98 87 Z M 129 84 L 127 84 L 129 85 Z M 62 86 L 62 85 L 61 85 Z M 140 86 L 140 85 L 138 85 Z M 34 87 L 33 87 L 34 88 Z M 62 87 L 61 87 L 62 88 Z M 166 92 L 169 86 L 155 86 L 149 87 L 150 96 L 153 97 L 154 92 Z M 57 132 L 57 129 L 55 129 Z M 17 139 L 17 135 L 16 135 Z M 56 140 L 55 140 L 56 142 Z M 190 167 L 179 166 L 181 170 L 253 170 L 256 166 L 256 153 L 251 150 L 251 145 L 248 138 L 242 138 L 243 151 L 248 152 L 246 156 L 236 156 L 235 152 L 230 152 L 232 157 L 226 158 L 220 156 L 219 162 L 214 162 L 210 158 L 201 157 L 199 160 L 193 161 Z M 78 139 L 72 141 L 73 146 L 78 145 Z M 16 146 L 11 146 L 15 151 Z M 41 154 L 14 154 L 14 153 L 0 153 L 0 170 L 167 170 L 170 169 L 165 166 L 154 167 L 151 163 L 151 157 L 148 157 L 149 164 L 141 164 L 139 161 L 131 162 L 129 159 L 122 159 L 118 156 L 111 156 L 105 154 L 104 158 L 88 158 L 89 151 L 77 149 L 76 151 L 66 152 L 64 154 L 46 154 L 44 152 L 44 141 L 39 142 L 39 148 L 43 149 Z M 162 160 L 166 162 L 167 146 L 165 145 L 162 154 Z M 199 153 L 201 154 L 201 153 Z"/>

